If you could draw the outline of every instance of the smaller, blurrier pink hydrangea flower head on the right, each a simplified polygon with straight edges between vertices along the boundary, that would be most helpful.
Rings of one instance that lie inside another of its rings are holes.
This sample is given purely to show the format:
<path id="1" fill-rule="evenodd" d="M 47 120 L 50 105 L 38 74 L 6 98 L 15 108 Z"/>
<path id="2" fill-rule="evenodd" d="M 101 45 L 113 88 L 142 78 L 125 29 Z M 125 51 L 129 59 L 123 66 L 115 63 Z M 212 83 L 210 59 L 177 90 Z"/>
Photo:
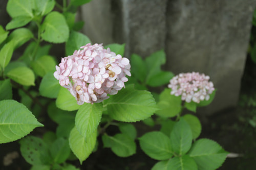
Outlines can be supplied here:
<path id="1" fill-rule="evenodd" d="M 210 77 L 199 72 L 179 74 L 170 80 L 168 87 L 172 89 L 170 94 L 181 95 L 181 100 L 187 103 L 193 101 L 200 103 L 209 100 L 209 94 L 215 90 L 214 84 L 209 82 Z"/>

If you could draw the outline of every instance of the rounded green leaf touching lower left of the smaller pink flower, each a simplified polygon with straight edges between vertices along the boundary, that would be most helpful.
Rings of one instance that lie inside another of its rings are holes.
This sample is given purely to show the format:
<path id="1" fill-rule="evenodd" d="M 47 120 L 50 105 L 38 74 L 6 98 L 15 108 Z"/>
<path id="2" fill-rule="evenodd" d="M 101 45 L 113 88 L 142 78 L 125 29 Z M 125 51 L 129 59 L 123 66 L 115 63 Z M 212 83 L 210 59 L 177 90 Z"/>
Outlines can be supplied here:
<path id="1" fill-rule="evenodd" d="M 181 111 L 181 97 L 170 94 L 171 89 L 165 88 L 159 95 L 156 114 L 162 117 L 174 117 Z"/>

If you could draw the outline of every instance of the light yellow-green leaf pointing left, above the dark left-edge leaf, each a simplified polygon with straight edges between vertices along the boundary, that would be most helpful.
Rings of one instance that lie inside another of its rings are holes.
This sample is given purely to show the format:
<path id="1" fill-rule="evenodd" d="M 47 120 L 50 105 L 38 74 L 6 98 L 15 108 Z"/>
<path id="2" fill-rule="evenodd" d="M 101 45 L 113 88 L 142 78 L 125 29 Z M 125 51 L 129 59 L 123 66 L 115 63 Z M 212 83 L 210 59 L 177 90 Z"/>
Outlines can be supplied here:
<path id="1" fill-rule="evenodd" d="M 24 86 L 35 85 L 35 75 L 33 71 L 28 67 L 14 68 L 7 72 L 6 76 Z"/>

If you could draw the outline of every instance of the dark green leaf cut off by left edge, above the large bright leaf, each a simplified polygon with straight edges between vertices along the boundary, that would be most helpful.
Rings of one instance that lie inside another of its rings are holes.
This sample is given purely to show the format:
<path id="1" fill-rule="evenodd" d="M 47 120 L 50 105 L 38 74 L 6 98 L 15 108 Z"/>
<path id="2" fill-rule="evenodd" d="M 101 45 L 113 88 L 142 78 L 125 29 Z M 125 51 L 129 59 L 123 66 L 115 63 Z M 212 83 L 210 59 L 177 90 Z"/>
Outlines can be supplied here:
<path id="1" fill-rule="evenodd" d="M 0 81 L 0 101 L 12 99 L 12 85 L 10 79 Z"/>

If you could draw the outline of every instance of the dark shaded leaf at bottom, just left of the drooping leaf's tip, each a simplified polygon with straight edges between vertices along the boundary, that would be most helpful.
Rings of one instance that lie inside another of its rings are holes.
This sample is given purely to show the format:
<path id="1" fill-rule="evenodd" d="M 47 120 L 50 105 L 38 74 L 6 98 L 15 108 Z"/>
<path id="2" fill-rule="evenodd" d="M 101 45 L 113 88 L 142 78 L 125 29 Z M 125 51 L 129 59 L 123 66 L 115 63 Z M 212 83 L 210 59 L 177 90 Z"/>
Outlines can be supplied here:
<path id="1" fill-rule="evenodd" d="M 51 145 L 50 153 L 55 163 L 65 162 L 70 155 L 68 140 L 64 138 L 55 140 Z"/>

